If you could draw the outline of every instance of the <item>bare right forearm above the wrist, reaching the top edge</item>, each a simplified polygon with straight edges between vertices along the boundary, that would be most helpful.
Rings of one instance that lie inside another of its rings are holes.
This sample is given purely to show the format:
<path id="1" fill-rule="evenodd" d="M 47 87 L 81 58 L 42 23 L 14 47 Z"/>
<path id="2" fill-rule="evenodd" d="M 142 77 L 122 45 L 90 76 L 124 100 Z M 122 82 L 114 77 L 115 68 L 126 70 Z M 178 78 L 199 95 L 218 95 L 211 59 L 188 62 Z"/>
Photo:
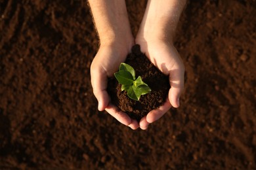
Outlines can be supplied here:
<path id="1" fill-rule="evenodd" d="M 149 0 L 137 39 L 173 39 L 186 0 Z"/>

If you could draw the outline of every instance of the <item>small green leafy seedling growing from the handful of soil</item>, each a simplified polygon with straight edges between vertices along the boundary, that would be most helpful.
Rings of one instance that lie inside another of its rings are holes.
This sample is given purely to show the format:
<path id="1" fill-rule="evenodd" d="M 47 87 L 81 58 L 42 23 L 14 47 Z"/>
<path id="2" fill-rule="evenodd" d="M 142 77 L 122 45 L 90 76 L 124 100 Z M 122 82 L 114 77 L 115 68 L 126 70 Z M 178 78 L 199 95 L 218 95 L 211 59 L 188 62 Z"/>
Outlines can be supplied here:
<path id="1" fill-rule="evenodd" d="M 148 84 L 144 83 L 140 76 L 136 78 L 135 70 L 127 63 L 121 63 L 119 71 L 114 75 L 119 84 L 122 84 L 121 91 L 125 90 L 131 99 L 139 101 L 140 95 L 151 92 Z"/>

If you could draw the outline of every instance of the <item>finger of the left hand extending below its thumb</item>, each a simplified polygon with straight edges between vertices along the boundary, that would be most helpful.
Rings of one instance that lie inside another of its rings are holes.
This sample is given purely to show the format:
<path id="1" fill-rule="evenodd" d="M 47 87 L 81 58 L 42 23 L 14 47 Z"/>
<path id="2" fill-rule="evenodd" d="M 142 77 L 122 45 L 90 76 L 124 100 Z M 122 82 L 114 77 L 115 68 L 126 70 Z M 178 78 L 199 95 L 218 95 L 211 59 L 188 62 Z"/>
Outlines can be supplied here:
<path id="1" fill-rule="evenodd" d="M 122 112 L 120 109 L 118 109 L 116 106 L 110 104 L 108 107 L 105 109 L 111 116 L 116 118 L 121 124 L 124 124 L 126 126 L 133 126 L 136 127 L 136 124 L 133 124 L 131 118 L 125 113 Z"/>

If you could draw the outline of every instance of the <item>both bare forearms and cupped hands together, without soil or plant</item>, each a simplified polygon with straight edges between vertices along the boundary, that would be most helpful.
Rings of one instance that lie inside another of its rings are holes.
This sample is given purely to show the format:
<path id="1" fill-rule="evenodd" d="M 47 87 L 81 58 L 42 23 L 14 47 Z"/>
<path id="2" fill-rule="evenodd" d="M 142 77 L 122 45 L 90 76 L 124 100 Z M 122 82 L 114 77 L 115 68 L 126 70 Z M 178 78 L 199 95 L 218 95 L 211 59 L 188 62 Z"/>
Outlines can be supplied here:
<path id="1" fill-rule="evenodd" d="M 147 129 L 171 107 L 179 107 L 179 97 L 184 86 L 184 65 L 179 53 L 173 46 L 173 35 L 179 16 L 185 5 L 184 0 L 149 0 L 136 39 L 133 38 L 127 16 L 125 1 L 89 0 L 100 48 L 91 64 L 91 84 L 98 100 L 98 110 L 106 110 L 119 122 L 132 129 Z M 131 119 L 112 105 L 106 91 L 108 77 L 114 75 L 119 64 L 131 47 L 140 44 L 142 52 L 150 61 L 169 75 L 171 88 L 163 106 L 150 111 L 140 122 Z"/>

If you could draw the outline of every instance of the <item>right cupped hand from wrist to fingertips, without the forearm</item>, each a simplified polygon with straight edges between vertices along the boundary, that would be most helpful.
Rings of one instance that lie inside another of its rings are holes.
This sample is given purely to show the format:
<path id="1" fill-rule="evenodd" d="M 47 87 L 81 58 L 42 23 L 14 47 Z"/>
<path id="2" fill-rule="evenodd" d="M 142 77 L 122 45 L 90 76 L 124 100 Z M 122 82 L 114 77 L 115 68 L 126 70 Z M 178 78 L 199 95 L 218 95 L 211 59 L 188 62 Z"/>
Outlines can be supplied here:
<path id="1" fill-rule="evenodd" d="M 136 43 L 140 44 L 140 50 L 146 54 L 148 59 L 150 59 L 163 74 L 169 76 L 171 86 L 165 103 L 158 109 L 148 112 L 148 114 L 140 120 L 140 128 L 147 129 L 149 124 L 161 118 L 171 107 L 179 107 L 179 97 L 181 96 L 184 86 L 184 65 L 173 43 L 166 39 L 146 40 L 137 38 Z"/>

